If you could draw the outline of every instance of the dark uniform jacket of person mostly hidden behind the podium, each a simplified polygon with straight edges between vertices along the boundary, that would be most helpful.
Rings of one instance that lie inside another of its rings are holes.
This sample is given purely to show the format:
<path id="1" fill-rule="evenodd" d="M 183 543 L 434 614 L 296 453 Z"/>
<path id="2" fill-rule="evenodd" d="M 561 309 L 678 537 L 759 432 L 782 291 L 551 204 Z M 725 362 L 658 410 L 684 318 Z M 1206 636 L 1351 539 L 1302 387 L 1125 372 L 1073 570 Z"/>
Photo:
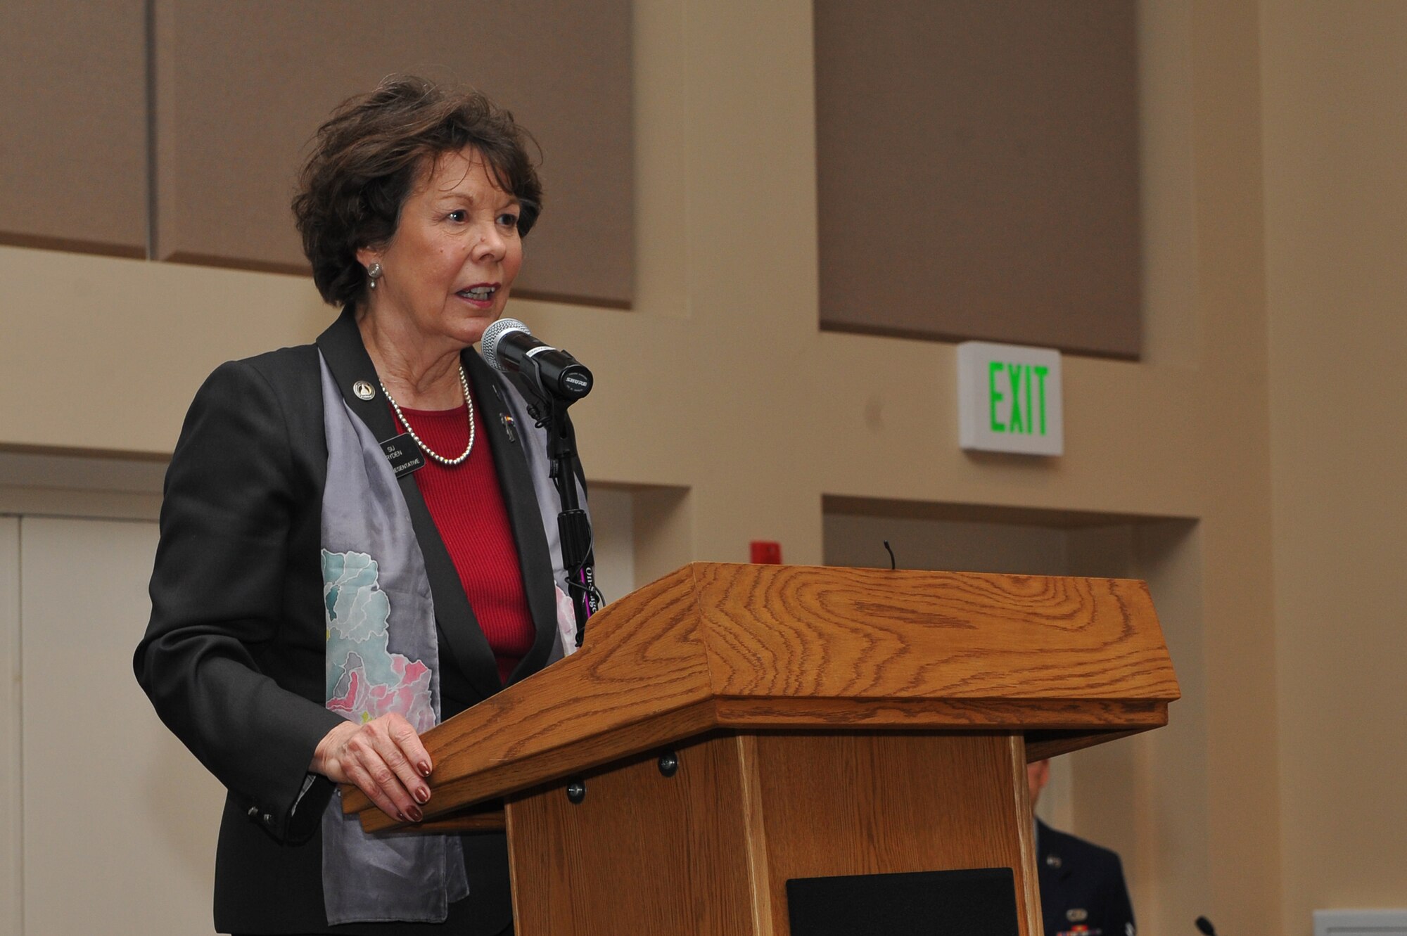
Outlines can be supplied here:
<path id="1" fill-rule="evenodd" d="M 1040 819 L 1036 849 L 1045 936 L 1134 936 L 1134 908 L 1117 853 L 1057 832 Z"/>

